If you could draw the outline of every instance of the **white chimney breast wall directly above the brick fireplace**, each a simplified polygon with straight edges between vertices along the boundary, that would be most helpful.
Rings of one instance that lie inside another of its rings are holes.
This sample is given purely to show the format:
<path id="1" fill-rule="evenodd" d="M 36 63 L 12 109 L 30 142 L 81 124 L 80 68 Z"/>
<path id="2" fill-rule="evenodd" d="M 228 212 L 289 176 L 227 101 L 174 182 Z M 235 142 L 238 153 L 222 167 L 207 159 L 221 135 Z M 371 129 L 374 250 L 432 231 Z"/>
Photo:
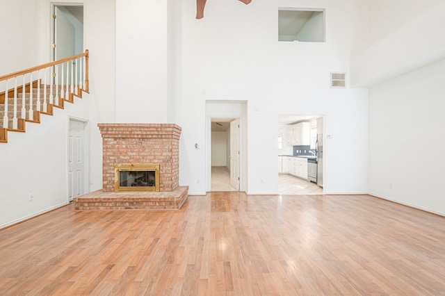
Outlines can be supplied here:
<path id="1" fill-rule="evenodd" d="M 167 1 L 116 0 L 116 120 L 167 122 Z"/>

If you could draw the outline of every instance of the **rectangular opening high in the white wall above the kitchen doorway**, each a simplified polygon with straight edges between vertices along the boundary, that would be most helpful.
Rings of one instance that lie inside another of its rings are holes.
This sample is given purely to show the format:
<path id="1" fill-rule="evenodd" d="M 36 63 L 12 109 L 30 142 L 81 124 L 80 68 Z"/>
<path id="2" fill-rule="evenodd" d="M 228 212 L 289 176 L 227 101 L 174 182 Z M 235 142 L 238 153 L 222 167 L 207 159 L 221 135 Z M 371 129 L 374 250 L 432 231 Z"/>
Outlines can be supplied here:
<path id="1" fill-rule="evenodd" d="M 325 9 L 279 8 L 278 41 L 325 42 Z"/>

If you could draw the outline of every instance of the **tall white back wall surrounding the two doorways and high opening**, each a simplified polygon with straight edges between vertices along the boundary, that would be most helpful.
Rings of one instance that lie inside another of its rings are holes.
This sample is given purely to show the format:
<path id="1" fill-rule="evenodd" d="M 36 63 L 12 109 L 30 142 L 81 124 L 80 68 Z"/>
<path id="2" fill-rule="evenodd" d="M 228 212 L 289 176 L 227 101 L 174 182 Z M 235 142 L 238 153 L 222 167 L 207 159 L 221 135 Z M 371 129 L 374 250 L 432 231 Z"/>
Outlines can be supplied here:
<path id="1" fill-rule="evenodd" d="M 190 143 L 181 147 L 180 182 L 191 192 L 205 191 L 204 184 L 195 183 L 206 175 L 204 155 L 187 149 L 195 142 L 189 137 L 204 140 L 204 102 L 245 100 L 249 194 L 278 192 L 280 114 L 326 115 L 334 138 L 326 144 L 325 191 L 367 192 L 367 91 L 329 88 L 330 72 L 348 70 L 359 22 L 355 12 L 362 15 L 367 1 L 318 1 L 315 8 L 327 11 L 325 43 L 277 42 L 278 7 L 314 8 L 313 1 L 252 1 L 248 6 L 212 1 L 200 20 L 194 19 L 193 1 L 187 3 L 181 26 L 182 100 L 176 113 L 184 142 Z M 190 169 L 189 163 L 196 165 Z"/>

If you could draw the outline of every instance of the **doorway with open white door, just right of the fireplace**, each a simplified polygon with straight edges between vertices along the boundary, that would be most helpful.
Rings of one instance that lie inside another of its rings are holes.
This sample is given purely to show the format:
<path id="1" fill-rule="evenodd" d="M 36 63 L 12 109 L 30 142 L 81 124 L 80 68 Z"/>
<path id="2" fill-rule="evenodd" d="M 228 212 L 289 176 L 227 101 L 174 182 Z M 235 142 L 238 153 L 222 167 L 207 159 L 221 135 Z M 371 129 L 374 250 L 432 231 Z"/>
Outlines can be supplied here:
<path id="1" fill-rule="evenodd" d="M 211 191 L 239 191 L 239 122 L 211 119 Z"/>

